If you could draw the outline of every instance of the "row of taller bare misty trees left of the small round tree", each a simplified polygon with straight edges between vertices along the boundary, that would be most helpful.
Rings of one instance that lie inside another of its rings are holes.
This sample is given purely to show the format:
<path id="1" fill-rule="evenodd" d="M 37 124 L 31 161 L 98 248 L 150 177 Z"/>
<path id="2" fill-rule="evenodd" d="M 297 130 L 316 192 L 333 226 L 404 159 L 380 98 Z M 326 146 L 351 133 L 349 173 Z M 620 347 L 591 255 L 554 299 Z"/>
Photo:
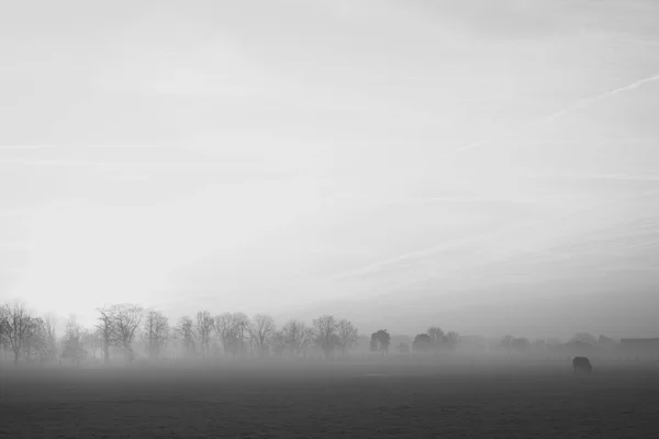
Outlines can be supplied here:
<path id="1" fill-rule="evenodd" d="M 120 357 L 131 362 L 136 345 L 149 359 L 161 359 L 178 351 L 187 358 L 228 356 L 309 356 L 326 359 L 336 351 L 347 354 L 358 340 L 358 329 L 347 319 L 332 315 L 314 318 L 311 325 L 291 319 L 278 327 L 267 314 L 252 317 L 244 313 L 212 315 L 200 311 L 170 323 L 163 313 L 135 304 L 119 304 L 96 309 L 96 325 L 83 327 L 75 317 L 56 335 L 52 315 L 38 317 L 20 303 L 0 306 L 0 344 L 13 352 L 14 363 L 47 363 L 59 359 L 74 363 L 92 358 L 109 362 Z"/>

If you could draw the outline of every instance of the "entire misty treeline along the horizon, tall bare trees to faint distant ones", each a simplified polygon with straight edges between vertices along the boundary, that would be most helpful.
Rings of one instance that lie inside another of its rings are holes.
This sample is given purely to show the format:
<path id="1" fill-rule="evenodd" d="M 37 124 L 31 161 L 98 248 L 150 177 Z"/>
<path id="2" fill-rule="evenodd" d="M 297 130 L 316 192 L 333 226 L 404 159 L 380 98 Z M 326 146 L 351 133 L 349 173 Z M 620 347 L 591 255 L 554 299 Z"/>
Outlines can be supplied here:
<path id="1" fill-rule="evenodd" d="M 380 329 L 370 337 L 359 335 L 347 319 L 322 315 L 311 324 L 291 319 L 278 327 L 267 314 L 248 317 L 244 313 L 213 315 L 200 311 L 171 323 L 158 311 L 135 304 L 119 304 L 96 309 L 92 327 L 83 327 L 69 317 L 58 335 L 53 315 L 36 316 L 20 303 L 0 306 L 0 344 L 3 356 L 13 362 L 47 364 L 83 361 L 127 363 L 137 357 L 149 360 L 208 359 L 228 357 L 294 357 L 330 360 L 349 352 L 399 354 L 442 354 L 456 352 L 541 353 L 573 356 L 597 350 L 614 352 L 619 342 L 608 337 L 577 334 L 568 342 L 558 339 L 530 341 L 524 337 L 487 338 L 460 336 L 437 326 L 413 339 L 392 336 Z M 393 345 L 393 348 L 392 348 Z"/>

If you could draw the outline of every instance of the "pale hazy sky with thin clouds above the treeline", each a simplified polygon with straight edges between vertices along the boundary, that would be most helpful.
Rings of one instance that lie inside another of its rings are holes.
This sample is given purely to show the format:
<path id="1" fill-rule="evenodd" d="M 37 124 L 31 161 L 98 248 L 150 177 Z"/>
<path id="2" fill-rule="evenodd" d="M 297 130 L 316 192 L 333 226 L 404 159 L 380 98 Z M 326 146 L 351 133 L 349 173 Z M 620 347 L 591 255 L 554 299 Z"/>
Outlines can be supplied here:
<path id="1" fill-rule="evenodd" d="M 659 336 L 649 0 L 26 0 L 0 299 Z"/>

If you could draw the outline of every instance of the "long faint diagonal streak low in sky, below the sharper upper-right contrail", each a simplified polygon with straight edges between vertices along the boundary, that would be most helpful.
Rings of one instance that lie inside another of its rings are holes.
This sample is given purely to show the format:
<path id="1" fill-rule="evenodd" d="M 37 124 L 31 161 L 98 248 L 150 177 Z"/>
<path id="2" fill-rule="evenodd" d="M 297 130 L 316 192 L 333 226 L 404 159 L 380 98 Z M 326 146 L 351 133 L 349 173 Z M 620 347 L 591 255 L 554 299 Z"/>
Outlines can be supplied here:
<path id="1" fill-rule="evenodd" d="M 449 243 L 439 244 L 437 246 L 433 246 L 433 247 L 429 247 L 429 248 L 426 248 L 426 249 L 423 249 L 423 250 L 412 251 L 412 252 L 409 252 L 409 254 L 405 254 L 405 255 L 398 256 L 395 258 L 386 259 L 386 260 L 382 260 L 382 261 L 379 261 L 379 262 L 371 263 L 371 264 L 366 266 L 366 267 L 361 267 L 359 269 L 355 269 L 355 270 L 346 271 L 346 272 L 343 272 L 343 273 L 334 274 L 334 275 L 327 278 L 325 280 L 325 282 L 336 281 L 336 280 L 342 280 L 342 279 L 349 279 L 349 278 L 355 278 L 355 277 L 365 275 L 365 274 L 373 274 L 373 273 L 377 273 L 377 272 L 380 272 L 380 271 L 384 270 L 387 266 L 391 266 L 391 264 L 396 263 L 396 262 L 405 261 L 405 260 L 409 260 L 409 259 L 417 259 L 417 258 L 422 258 L 422 257 L 426 257 L 426 256 L 437 255 L 437 254 L 440 254 L 442 251 L 451 249 L 454 247 L 459 247 L 459 246 L 462 246 L 465 244 L 469 244 L 469 243 L 472 243 L 472 241 L 496 238 L 499 236 L 506 235 L 507 233 L 516 232 L 516 230 L 520 230 L 522 228 L 533 227 L 533 226 L 538 225 L 538 224 L 545 224 L 545 223 L 548 223 L 548 222 L 554 222 L 554 221 L 557 221 L 557 219 L 567 218 L 567 217 L 570 217 L 570 216 L 572 216 L 574 214 L 578 214 L 580 212 L 584 212 L 584 211 L 588 211 L 588 210 L 591 210 L 591 209 L 600 207 L 600 206 L 608 204 L 608 203 L 615 203 L 616 201 L 632 201 L 632 200 L 638 200 L 638 199 L 643 199 L 643 198 L 647 198 L 647 196 L 652 196 L 652 195 L 656 195 L 656 194 L 659 194 L 659 191 L 652 190 L 652 191 L 644 192 L 644 193 L 641 193 L 639 195 L 629 196 L 629 198 L 626 198 L 626 199 L 623 199 L 623 200 L 617 200 L 617 199 L 612 199 L 611 200 L 610 199 L 610 200 L 606 200 L 604 202 L 591 203 L 591 204 L 588 204 L 585 206 L 577 207 L 577 209 L 573 209 L 573 210 L 571 210 L 569 212 L 563 212 L 563 213 L 560 213 L 558 215 L 554 215 L 551 217 L 548 217 L 548 218 L 530 221 L 530 222 L 526 222 L 526 223 L 523 223 L 523 224 L 520 224 L 520 225 L 515 225 L 515 226 L 512 226 L 512 227 L 506 227 L 506 228 L 501 229 L 501 230 L 491 232 L 491 233 L 484 233 L 484 234 L 480 234 L 480 235 L 476 235 L 476 236 L 470 236 L 470 237 L 466 237 L 466 238 L 461 238 L 461 239 L 456 239 L 456 240 L 453 240 L 453 241 L 449 241 Z"/>

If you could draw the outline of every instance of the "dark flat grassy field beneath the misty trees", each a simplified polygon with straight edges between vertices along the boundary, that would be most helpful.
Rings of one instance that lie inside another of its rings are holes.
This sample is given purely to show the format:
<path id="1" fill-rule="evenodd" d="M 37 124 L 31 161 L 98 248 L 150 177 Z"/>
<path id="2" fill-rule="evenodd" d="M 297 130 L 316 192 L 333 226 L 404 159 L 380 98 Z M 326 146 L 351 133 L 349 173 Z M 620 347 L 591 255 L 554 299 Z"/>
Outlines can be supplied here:
<path id="1" fill-rule="evenodd" d="M 3 365 L 7 438 L 651 438 L 659 370 L 560 364 Z"/>

